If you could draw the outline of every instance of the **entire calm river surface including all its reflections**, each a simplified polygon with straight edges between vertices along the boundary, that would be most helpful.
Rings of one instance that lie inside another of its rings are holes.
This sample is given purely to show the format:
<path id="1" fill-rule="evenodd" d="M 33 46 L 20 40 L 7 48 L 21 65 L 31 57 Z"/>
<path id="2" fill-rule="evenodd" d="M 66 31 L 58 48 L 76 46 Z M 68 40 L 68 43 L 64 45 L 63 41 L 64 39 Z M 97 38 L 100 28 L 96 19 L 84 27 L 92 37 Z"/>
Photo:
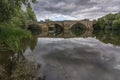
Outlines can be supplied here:
<path id="1" fill-rule="evenodd" d="M 120 80 L 120 34 L 39 35 L 24 51 L 0 52 L 0 80 Z"/>

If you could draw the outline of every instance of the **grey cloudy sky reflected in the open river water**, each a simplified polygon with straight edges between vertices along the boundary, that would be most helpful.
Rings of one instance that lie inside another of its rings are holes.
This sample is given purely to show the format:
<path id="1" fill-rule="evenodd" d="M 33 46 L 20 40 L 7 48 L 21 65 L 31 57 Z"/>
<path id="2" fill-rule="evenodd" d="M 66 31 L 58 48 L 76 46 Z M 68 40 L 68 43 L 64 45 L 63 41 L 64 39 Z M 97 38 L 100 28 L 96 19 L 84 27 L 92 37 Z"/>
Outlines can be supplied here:
<path id="1" fill-rule="evenodd" d="M 96 38 L 39 38 L 33 53 L 45 80 L 120 80 L 120 47 Z"/>

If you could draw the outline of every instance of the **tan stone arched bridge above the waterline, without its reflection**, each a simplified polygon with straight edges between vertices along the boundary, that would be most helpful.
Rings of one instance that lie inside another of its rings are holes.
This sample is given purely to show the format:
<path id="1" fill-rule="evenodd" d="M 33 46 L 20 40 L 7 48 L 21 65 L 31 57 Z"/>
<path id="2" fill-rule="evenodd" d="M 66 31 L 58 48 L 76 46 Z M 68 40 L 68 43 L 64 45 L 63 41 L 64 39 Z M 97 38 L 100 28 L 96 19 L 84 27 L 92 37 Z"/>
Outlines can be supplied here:
<path id="1" fill-rule="evenodd" d="M 82 25 L 84 25 L 84 27 L 86 29 L 93 29 L 93 22 L 92 21 L 77 21 L 77 20 L 66 20 L 66 21 L 47 21 L 47 22 L 38 22 L 38 25 L 43 28 L 43 29 L 48 29 L 49 27 L 51 27 L 54 24 L 57 24 L 61 27 L 64 28 L 64 30 L 69 30 L 74 24 L 76 23 L 80 23 Z"/>

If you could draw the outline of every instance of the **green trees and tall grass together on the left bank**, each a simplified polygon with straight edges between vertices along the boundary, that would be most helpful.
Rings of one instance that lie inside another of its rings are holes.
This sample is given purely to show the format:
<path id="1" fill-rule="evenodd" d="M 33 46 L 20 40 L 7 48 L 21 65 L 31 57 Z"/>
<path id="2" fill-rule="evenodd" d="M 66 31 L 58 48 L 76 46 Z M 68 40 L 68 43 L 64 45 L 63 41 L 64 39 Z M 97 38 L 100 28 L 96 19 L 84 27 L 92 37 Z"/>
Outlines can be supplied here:
<path id="1" fill-rule="evenodd" d="M 23 40 L 31 37 L 31 32 L 26 30 L 27 22 L 36 21 L 31 8 L 31 3 L 35 2 L 36 0 L 0 0 L 0 45 L 13 52 L 24 47 L 21 44 Z"/>

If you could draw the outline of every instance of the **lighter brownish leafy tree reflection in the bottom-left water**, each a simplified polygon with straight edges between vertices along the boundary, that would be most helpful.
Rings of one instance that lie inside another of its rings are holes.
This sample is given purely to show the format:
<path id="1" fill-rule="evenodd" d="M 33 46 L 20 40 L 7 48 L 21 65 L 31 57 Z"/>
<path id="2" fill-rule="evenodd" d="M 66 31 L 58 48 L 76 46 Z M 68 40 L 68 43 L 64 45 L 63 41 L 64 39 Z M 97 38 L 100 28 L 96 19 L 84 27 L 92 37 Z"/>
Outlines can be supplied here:
<path id="1" fill-rule="evenodd" d="M 12 80 L 33 80 L 37 75 L 35 63 L 27 61 L 22 53 L 19 53 L 16 64 L 12 69 Z"/>

